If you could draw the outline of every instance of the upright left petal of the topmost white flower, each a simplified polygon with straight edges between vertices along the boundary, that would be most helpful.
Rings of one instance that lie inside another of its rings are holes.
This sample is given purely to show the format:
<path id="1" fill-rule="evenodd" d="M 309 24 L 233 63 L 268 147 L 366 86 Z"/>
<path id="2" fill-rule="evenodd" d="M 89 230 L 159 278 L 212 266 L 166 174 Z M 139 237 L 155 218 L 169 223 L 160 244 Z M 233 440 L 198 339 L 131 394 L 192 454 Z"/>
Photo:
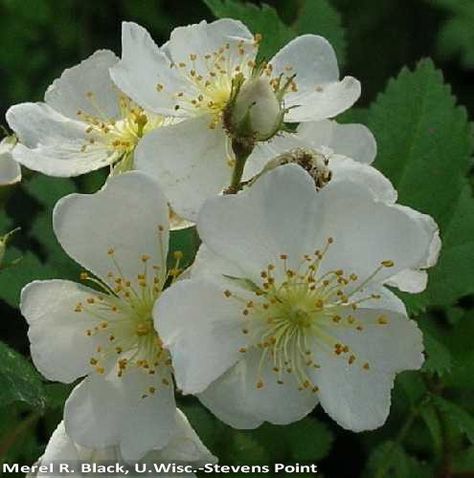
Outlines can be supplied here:
<path id="1" fill-rule="evenodd" d="M 189 85 L 171 68 L 171 61 L 150 34 L 136 23 L 122 23 L 122 59 L 110 74 L 122 91 L 147 110 L 170 116 L 182 114 L 174 109 L 174 95 L 187 91 Z M 160 92 L 158 84 L 163 86 Z"/>

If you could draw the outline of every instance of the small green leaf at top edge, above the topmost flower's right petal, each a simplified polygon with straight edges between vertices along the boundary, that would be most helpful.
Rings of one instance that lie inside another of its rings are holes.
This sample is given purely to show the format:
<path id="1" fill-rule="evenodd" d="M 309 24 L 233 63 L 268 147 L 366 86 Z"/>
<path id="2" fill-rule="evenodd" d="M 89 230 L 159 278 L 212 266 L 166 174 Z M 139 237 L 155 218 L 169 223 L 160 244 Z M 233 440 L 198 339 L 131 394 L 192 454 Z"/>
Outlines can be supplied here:
<path id="1" fill-rule="evenodd" d="M 346 61 L 346 37 L 341 15 L 329 0 L 305 0 L 292 25 L 298 35 L 313 33 L 329 40 L 340 65 Z"/>

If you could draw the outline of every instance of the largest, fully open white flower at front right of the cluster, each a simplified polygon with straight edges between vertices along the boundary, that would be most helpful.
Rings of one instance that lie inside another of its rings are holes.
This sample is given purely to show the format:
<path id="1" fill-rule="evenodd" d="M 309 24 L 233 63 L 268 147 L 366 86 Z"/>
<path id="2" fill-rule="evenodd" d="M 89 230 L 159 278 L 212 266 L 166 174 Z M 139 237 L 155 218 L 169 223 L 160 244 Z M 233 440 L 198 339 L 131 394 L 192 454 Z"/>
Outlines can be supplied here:
<path id="1" fill-rule="evenodd" d="M 423 363 L 422 334 L 385 284 L 426 265 L 436 225 L 352 167 L 316 191 L 281 166 L 209 199 L 191 279 L 155 306 L 177 386 L 234 427 L 288 424 L 319 402 L 344 428 L 377 428 L 396 373 Z"/>

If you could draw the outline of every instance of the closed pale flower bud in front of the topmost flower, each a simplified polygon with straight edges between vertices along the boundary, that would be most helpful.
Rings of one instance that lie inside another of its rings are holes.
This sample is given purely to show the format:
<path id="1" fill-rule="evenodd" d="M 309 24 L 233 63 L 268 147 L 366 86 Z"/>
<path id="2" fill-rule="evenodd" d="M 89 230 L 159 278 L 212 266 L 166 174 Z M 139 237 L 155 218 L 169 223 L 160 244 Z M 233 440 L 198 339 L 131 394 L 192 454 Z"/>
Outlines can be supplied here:
<path id="1" fill-rule="evenodd" d="M 238 91 L 230 117 L 234 135 L 266 141 L 280 129 L 284 110 L 268 79 L 254 78 Z"/>

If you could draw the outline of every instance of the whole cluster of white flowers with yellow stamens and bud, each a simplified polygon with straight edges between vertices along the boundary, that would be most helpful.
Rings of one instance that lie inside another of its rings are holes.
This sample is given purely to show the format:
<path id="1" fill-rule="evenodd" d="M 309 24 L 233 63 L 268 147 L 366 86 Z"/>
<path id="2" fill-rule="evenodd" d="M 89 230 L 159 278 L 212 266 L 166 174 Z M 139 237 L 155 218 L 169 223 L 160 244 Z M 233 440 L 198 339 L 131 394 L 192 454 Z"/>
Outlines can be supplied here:
<path id="1" fill-rule="evenodd" d="M 44 103 L 10 108 L 0 181 L 108 166 L 62 198 L 56 237 L 80 283 L 22 291 L 31 355 L 76 383 L 42 463 L 212 462 L 175 393 L 235 428 L 289 424 L 317 404 L 352 431 L 381 426 L 423 340 L 393 288 L 425 289 L 440 240 L 371 166 L 376 142 L 333 118 L 360 95 L 322 37 L 271 60 L 231 19 L 157 46 L 124 23 L 122 56 L 67 69 Z M 183 270 L 170 230 L 196 227 Z M 390 287 L 390 288 L 389 288 Z"/>

